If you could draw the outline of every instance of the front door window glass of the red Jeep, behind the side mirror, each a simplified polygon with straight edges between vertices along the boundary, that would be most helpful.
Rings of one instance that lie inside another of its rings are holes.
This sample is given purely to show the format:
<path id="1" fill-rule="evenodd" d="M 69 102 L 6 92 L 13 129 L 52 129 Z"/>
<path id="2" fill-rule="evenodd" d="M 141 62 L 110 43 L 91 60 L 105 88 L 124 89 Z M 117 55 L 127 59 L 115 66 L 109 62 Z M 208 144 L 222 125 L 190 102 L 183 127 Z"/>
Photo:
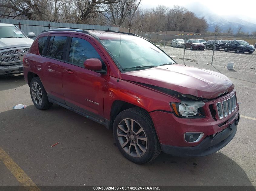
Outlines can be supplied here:
<path id="1" fill-rule="evenodd" d="M 73 37 L 69 51 L 69 62 L 84 67 L 85 60 L 89 58 L 98 58 L 101 60 L 100 55 L 88 41 Z"/>

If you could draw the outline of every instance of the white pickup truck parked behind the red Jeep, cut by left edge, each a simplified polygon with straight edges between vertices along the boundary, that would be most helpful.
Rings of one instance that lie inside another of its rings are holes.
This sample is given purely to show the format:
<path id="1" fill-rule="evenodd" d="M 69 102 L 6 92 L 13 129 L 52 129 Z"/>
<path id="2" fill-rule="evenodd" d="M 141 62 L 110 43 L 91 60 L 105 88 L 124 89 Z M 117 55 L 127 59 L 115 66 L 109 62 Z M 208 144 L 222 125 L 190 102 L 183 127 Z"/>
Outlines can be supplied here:
<path id="1" fill-rule="evenodd" d="M 28 36 L 13 24 L 0 23 L 0 75 L 23 72 L 23 57 L 33 41 L 35 33 Z"/>

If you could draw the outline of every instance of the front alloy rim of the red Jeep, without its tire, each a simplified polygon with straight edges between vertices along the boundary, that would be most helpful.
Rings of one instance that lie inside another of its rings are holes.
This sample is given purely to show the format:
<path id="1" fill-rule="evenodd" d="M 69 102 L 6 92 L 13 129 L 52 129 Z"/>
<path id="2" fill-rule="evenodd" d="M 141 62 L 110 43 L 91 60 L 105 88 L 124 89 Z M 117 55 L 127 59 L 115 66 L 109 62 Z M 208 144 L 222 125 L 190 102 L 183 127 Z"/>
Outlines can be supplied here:
<path id="1" fill-rule="evenodd" d="M 133 119 L 123 119 L 117 128 L 118 141 L 132 157 L 141 157 L 147 151 L 148 140 L 144 129 Z"/>

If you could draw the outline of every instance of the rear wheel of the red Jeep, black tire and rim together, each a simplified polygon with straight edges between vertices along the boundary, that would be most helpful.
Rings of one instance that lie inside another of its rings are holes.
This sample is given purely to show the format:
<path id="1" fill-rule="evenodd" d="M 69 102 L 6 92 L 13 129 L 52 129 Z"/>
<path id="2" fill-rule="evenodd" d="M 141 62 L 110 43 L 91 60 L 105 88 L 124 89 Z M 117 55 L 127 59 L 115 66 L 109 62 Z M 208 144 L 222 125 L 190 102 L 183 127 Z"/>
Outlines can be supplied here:
<path id="1" fill-rule="evenodd" d="M 32 78 L 29 89 L 31 99 L 37 109 L 46 110 L 52 106 L 52 103 L 49 102 L 47 93 L 39 77 Z"/>

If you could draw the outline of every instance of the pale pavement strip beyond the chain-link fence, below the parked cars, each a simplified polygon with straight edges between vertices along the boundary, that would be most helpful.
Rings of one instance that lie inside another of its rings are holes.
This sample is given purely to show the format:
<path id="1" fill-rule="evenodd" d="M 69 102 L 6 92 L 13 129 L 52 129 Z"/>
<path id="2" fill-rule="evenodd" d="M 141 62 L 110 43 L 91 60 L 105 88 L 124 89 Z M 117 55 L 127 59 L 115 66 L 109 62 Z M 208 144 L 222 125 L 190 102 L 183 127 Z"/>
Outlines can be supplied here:
<path id="1" fill-rule="evenodd" d="M 161 47 L 163 49 L 163 47 Z M 165 52 L 169 55 L 182 57 L 184 54 L 184 48 L 176 48 L 165 46 Z M 193 62 L 202 62 L 211 64 L 212 49 L 204 50 L 190 50 L 185 49 L 185 58 L 191 58 Z M 234 62 L 235 69 L 242 69 L 254 72 L 251 68 L 256 68 L 256 52 L 249 53 L 235 53 L 232 51 L 225 52 L 224 50 L 214 51 L 213 65 L 227 66 L 228 62 Z M 251 68 L 250 68 L 251 67 Z"/>

